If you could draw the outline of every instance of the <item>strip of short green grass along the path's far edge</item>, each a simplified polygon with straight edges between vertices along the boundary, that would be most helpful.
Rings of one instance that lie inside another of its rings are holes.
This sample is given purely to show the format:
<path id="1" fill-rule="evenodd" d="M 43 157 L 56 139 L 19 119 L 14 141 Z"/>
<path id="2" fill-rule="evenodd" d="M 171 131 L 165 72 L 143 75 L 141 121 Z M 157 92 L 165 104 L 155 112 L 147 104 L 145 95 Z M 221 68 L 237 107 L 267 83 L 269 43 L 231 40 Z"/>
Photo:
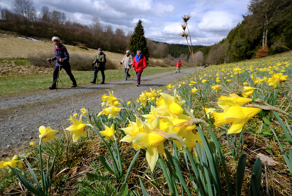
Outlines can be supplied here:
<path id="1" fill-rule="evenodd" d="M 15 60 L 15 64 L 18 65 L 26 65 L 27 60 L 19 59 Z M 189 67 L 182 67 L 182 69 Z M 175 71 L 174 67 L 147 67 L 144 71 L 144 75 L 151 75 L 160 72 L 166 71 Z M 53 72 L 53 69 L 52 69 Z M 133 74 L 135 74 L 134 69 L 132 69 Z M 130 71 L 130 74 L 132 75 Z M 93 71 L 74 71 L 72 72 L 75 80 L 77 81 L 77 85 L 88 84 L 93 79 Z M 116 79 L 124 79 L 125 73 L 124 70 L 106 70 L 105 71 L 105 81 L 109 82 L 111 80 Z M 60 73 L 60 79 L 62 80 L 64 86 L 58 83 L 59 87 L 70 87 L 72 82 L 65 72 Z M 41 74 L 20 74 L 13 73 L 12 74 L 4 74 L 3 77 L 0 77 L 0 97 L 9 97 L 9 96 L 18 96 L 21 94 L 25 94 L 27 92 L 36 92 L 43 91 L 51 85 L 53 80 L 52 73 L 41 73 Z M 98 73 L 98 81 L 102 80 L 101 73 Z"/>

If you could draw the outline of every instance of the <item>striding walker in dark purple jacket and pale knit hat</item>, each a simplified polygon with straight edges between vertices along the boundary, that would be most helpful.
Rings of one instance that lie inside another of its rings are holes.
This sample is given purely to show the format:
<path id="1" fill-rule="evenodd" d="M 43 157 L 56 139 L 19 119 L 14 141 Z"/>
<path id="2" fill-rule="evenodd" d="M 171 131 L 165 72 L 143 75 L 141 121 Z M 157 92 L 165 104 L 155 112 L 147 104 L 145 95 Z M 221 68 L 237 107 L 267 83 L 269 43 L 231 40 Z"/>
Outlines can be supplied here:
<path id="1" fill-rule="evenodd" d="M 51 59 L 47 59 L 48 62 L 51 61 L 56 61 L 56 65 L 53 71 L 53 83 L 49 89 L 53 90 L 56 89 L 56 83 L 58 80 L 58 73 L 62 68 L 65 69 L 66 73 L 69 75 L 71 81 L 72 81 L 72 86 L 71 87 L 77 87 L 76 80 L 71 72 L 71 66 L 69 63 L 69 54 L 66 49 L 66 47 L 61 43 L 61 40 L 59 37 L 52 37 L 52 42 L 55 44 L 54 49 L 55 49 L 55 56 Z"/>

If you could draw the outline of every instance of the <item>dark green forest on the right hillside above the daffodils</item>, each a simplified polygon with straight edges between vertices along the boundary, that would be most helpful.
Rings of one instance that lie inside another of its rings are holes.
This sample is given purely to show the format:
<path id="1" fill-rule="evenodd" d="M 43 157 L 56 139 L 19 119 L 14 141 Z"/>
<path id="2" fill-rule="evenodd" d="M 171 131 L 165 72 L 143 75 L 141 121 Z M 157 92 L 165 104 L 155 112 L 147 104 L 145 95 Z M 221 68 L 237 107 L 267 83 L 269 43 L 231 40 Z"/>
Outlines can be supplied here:
<path id="1" fill-rule="evenodd" d="M 203 47 L 204 63 L 220 64 L 256 58 L 267 45 L 266 55 L 292 49 L 292 1 L 251 0 L 250 14 L 219 43 Z M 199 54 L 197 54 L 199 55 Z"/>

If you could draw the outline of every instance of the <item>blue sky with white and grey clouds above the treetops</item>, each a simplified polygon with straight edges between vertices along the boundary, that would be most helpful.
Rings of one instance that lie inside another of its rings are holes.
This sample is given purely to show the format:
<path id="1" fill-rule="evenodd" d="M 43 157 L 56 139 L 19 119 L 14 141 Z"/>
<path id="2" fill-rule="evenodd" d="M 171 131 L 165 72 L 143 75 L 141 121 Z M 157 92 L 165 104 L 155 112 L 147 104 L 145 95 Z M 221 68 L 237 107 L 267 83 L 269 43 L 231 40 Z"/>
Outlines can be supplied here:
<path id="1" fill-rule="evenodd" d="M 179 36 L 182 16 L 190 13 L 188 21 L 193 45 L 212 45 L 248 14 L 250 0 L 31 0 L 38 12 L 46 5 L 50 11 L 65 12 L 67 19 L 90 25 L 98 17 L 103 25 L 125 34 L 133 31 L 142 20 L 145 36 L 155 41 L 186 44 Z M 0 0 L 1 8 L 12 10 L 13 1 Z"/>

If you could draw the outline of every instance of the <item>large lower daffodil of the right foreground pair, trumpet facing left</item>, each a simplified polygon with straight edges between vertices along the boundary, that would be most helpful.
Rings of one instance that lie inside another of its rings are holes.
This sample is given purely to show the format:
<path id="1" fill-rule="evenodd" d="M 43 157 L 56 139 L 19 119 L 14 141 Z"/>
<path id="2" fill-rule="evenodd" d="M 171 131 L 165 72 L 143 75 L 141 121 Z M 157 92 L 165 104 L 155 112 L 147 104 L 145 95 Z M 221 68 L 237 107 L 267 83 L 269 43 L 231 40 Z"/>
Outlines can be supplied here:
<path id="1" fill-rule="evenodd" d="M 215 127 L 217 128 L 221 125 L 232 123 L 227 130 L 227 133 L 239 133 L 247 120 L 261 111 L 262 109 L 260 108 L 241 107 L 239 105 L 231 106 L 227 112 L 223 113 L 217 113 L 214 111 Z"/>

